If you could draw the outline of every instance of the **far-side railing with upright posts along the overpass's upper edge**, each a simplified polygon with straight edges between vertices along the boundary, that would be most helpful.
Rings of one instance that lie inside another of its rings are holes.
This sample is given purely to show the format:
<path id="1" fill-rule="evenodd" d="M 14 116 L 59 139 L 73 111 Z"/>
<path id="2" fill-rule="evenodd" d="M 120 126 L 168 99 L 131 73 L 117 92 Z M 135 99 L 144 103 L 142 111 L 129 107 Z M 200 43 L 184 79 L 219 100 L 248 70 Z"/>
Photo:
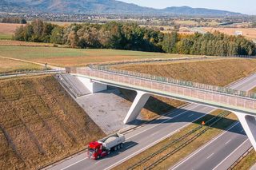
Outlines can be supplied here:
<path id="1" fill-rule="evenodd" d="M 138 73 L 138 72 L 127 71 L 127 70 L 122 70 L 122 69 L 113 69 L 113 68 L 110 68 L 108 65 L 89 65 L 89 68 L 97 69 L 97 70 L 108 72 L 108 73 L 116 73 L 116 74 L 126 75 L 129 77 L 137 77 L 139 79 L 146 79 L 146 80 L 158 81 L 158 82 L 160 81 L 163 83 L 181 85 L 181 86 L 194 88 L 194 89 L 200 89 L 200 90 L 203 89 L 203 90 L 207 90 L 207 91 L 230 94 L 230 95 L 234 95 L 234 96 L 238 96 L 238 97 L 246 97 L 246 98 L 250 98 L 250 99 L 256 99 L 256 93 L 250 93 L 250 92 L 246 92 L 246 91 L 242 91 L 242 90 L 220 87 L 217 85 L 206 85 L 206 84 L 197 83 L 197 82 L 193 82 L 193 81 L 177 80 L 177 79 L 170 78 L 170 77 L 161 77 L 161 76 L 156 76 L 156 75 L 151 75 L 151 74 L 146 74 L 146 73 Z"/>

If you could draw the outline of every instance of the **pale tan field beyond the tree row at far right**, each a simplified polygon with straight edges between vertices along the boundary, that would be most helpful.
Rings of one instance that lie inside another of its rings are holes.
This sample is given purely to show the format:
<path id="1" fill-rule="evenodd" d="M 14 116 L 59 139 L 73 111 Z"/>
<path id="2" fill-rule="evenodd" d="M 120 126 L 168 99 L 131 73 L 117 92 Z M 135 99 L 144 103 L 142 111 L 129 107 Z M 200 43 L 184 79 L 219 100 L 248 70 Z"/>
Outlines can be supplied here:
<path id="1" fill-rule="evenodd" d="M 228 35 L 235 35 L 236 31 L 242 31 L 242 35 L 251 40 L 256 39 L 256 29 L 255 28 L 213 28 L 213 27 L 204 27 L 202 28 L 206 32 L 213 33 L 214 31 L 219 31 Z"/>

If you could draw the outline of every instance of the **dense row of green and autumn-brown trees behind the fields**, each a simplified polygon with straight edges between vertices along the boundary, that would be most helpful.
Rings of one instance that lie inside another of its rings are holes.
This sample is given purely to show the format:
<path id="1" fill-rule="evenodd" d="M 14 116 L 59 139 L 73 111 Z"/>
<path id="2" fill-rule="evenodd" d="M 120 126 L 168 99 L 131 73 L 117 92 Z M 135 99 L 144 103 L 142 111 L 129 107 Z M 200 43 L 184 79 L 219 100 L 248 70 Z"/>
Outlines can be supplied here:
<path id="1" fill-rule="evenodd" d="M 21 26 L 14 39 L 51 42 L 76 48 L 106 48 L 200 55 L 256 55 L 254 42 L 242 36 L 163 34 L 134 23 L 72 24 L 57 26 L 41 20 Z"/>

